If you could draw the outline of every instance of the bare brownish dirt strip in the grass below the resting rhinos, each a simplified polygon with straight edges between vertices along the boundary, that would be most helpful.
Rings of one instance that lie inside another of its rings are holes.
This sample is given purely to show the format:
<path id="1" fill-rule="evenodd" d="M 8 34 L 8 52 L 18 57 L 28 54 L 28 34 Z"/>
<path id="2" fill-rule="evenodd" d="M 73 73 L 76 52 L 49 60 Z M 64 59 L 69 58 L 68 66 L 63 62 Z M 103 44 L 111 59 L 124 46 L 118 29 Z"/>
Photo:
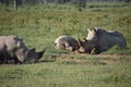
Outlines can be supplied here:
<path id="1" fill-rule="evenodd" d="M 131 54 L 112 54 L 112 53 L 102 53 L 102 54 L 86 54 L 86 53 L 52 53 L 45 55 L 46 61 L 53 60 L 66 64 L 102 64 L 102 65 L 112 65 L 121 64 L 126 62 L 131 62 Z"/>

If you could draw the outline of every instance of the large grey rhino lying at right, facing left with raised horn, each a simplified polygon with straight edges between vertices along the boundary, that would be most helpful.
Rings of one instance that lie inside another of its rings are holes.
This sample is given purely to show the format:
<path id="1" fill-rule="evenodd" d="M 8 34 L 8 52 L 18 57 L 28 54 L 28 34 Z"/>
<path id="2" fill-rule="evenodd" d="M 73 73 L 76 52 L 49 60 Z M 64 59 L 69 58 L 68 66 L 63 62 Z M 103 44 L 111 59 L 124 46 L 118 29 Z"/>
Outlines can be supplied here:
<path id="1" fill-rule="evenodd" d="M 100 53 L 108 50 L 115 45 L 118 45 L 121 48 L 126 48 L 127 41 L 123 35 L 116 30 L 105 30 L 102 28 L 94 28 L 88 30 L 87 37 L 82 41 L 78 38 L 80 52 L 86 53 Z"/>

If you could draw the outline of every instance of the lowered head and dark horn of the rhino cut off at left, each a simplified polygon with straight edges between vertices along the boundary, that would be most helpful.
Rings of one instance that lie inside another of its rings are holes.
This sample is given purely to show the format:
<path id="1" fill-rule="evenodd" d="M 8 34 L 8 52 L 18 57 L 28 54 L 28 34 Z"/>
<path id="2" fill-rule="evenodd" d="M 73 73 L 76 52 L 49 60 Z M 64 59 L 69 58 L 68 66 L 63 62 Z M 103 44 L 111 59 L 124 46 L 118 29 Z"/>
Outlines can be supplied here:
<path id="1" fill-rule="evenodd" d="M 46 51 L 46 48 L 39 52 L 36 52 L 36 49 L 27 49 L 24 45 L 23 40 L 20 38 L 15 38 L 15 49 L 12 50 L 14 52 L 15 58 L 21 63 L 34 63 L 37 62 Z M 13 55 L 12 55 L 13 57 Z"/>

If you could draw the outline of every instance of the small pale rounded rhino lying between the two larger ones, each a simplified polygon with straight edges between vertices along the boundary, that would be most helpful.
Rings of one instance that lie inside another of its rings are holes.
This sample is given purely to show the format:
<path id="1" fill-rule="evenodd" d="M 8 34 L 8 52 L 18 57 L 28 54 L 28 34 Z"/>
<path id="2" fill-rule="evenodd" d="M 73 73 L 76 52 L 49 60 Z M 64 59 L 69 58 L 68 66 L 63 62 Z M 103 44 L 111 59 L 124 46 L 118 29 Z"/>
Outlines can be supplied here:
<path id="1" fill-rule="evenodd" d="M 68 35 L 63 35 L 63 36 L 58 37 L 55 40 L 55 48 L 61 49 L 61 50 L 75 51 L 79 49 L 79 45 L 74 38 Z"/>

